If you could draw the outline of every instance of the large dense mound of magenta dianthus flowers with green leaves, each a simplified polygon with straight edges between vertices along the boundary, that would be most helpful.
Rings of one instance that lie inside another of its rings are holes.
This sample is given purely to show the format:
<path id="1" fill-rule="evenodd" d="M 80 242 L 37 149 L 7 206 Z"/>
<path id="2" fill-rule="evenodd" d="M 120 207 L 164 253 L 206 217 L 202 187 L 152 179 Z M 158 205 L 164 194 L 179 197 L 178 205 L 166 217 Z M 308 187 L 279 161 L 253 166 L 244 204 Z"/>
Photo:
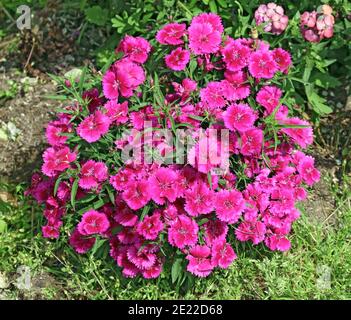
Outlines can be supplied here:
<path id="1" fill-rule="evenodd" d="M 267 8 L 283 29 L 280 7 Z M 240 256 L 236 241 L 288 250 L 296 202 L 320 176 L 302 151 L 312 128 L 278 87 L 289 52 L 231 38 L 213 13 L 170 23 L 151 43 L 126 36 L 116 50 L 101 88 L 47 126 L 46 178 L 35 174 L 27 192 L 45 205 L 43 236 L 68 232 L 79 254 L 102 240 L 126 277 L 156 278 L 179 256 L 205 277 Z M 191 138 L 186 159 L 163 161 L 178 128 Z M 124 160 L 130 146 L 139 156 Z"/>

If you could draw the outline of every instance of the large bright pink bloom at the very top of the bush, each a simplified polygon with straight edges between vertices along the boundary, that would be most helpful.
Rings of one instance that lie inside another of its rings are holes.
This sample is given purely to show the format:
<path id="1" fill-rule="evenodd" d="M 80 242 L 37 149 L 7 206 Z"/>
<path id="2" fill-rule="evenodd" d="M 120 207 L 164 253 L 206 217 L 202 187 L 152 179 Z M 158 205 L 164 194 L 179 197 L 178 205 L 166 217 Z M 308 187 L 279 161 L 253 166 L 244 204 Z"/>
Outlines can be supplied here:
<path id="1" fill-rule="evenodd" d="M 215 53 L 222 42 L 223 29 L 218 29 L 217 19 L 210 18 L 211 22 L 203 22 L 202 19 L 208 20 L 208 18 L 204 15 L 202 17 L 198 18 L 198 22 L 195 17 L 188 28 L 189 48 L 195 54 Z"/>

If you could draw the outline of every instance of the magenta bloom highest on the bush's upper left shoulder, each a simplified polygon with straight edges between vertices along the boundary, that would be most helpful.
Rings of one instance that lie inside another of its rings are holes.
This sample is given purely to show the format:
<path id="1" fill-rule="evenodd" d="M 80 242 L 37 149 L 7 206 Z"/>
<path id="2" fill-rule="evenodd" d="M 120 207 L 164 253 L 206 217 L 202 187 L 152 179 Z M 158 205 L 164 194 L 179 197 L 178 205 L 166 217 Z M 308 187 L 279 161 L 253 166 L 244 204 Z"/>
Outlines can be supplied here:
<path id="1" fill-rule="evenodd" d="M 145 63 L 151 51 L 151 45 L 149 41 L 142 37 L 126 35 L 116 51 L 123 52 L 125 57 L 133 62 Z"/>

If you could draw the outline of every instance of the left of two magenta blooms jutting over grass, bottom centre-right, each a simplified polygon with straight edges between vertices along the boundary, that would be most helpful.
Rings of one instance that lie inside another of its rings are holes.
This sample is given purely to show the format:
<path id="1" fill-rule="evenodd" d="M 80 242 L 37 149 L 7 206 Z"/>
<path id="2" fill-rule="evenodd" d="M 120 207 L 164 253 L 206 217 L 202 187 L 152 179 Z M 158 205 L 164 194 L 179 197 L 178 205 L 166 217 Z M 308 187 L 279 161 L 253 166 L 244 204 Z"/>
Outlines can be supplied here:
<path id="1" fill-rule="evenodd" d="M 207 277 L 213 269 L 211 249 L 208 246 L 197 245 L 189 250 L 186 259 L 189 261 L 187 270 L 198 277 Z"/>

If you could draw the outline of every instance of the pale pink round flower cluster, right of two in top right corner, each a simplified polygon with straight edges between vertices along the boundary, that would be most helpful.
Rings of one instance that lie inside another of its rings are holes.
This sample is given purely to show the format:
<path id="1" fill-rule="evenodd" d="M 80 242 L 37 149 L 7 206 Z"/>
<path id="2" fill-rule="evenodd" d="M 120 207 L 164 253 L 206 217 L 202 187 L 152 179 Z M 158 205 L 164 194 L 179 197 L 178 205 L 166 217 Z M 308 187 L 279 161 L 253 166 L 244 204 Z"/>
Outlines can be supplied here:
<path id="1" fill-rule="evenodd" d="M 332 8 L 324 4 L 317 11 L 304 12 L 300 17 L 303 37 L 309 42 L 319 42 L 331 38 L 334 34 L 334 16 Z"/>

